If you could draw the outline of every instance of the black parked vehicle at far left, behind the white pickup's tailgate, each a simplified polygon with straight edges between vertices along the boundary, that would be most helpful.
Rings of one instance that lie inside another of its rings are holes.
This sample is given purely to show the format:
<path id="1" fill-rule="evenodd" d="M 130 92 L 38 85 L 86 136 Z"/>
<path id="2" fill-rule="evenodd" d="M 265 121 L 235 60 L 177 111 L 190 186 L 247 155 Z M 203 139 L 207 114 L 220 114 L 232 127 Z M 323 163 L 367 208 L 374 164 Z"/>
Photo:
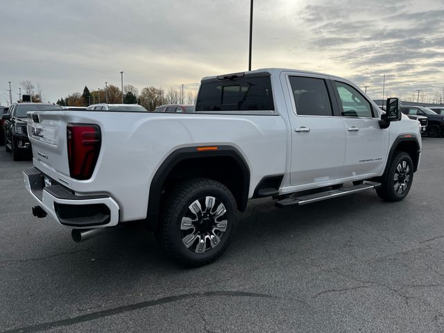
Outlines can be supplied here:
<path id="1" fill-rule="evenodd" d="M 9 108 L 8 114 L 3 114 L 3 130 L 5 148 L 12 151 L 12 160 L 19 160 L 25 156 L 31 156 L 31 143 L 28 139 L 27 113 L 28 111 L 55 111 L 63 110 L 59 105 L 49 103 L 14 103 Z"/>

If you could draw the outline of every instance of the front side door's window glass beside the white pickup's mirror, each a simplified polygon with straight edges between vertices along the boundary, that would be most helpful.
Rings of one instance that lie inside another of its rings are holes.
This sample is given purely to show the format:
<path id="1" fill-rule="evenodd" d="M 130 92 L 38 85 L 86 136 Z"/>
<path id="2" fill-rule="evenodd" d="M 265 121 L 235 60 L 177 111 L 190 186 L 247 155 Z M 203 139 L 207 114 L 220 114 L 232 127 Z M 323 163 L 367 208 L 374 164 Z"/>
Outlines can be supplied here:
<path id="1" fill-rule="evenodd" d="M 341 99 L 343 117 L 373 117 L 370 103 L 362 96 L 357 89 L 346 83 L 334 81 L 334 85 Z"/>

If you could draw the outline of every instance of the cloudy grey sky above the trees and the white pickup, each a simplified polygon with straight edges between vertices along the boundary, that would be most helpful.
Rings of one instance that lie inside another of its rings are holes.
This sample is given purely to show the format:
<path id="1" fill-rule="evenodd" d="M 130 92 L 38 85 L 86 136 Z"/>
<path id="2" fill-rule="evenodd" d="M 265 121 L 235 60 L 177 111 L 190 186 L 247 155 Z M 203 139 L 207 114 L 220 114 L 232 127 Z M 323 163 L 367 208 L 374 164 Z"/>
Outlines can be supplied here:
<path id="1" fill-rule="evenodd" d="M 0 0 L 0 102 L 8 81 L 45 100 L 105 81 L 169 89 L 248 67 L 249 0 Z M 322 71 L 373 99 L 444 90 L 443 0 L 255 0 L 253 69 Z M 190 86 L 188 89 L 196 89 Z M 421 93 L 422 94 L 422 93 Z"/>

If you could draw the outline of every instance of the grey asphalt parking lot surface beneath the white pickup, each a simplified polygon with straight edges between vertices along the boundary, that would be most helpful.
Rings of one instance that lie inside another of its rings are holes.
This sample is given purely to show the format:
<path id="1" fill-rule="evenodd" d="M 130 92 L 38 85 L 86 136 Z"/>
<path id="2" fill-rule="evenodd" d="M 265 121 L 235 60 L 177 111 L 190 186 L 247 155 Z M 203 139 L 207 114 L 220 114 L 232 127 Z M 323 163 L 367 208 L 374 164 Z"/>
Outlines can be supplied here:
<path id="1" fill-rule="evenodd" d="M 195 269 L 142 225 L 75 244 L 0 148 L 0 332 L 444 332 L 444 139 L 423 139 L 402 202 L 254 200 Z"/>

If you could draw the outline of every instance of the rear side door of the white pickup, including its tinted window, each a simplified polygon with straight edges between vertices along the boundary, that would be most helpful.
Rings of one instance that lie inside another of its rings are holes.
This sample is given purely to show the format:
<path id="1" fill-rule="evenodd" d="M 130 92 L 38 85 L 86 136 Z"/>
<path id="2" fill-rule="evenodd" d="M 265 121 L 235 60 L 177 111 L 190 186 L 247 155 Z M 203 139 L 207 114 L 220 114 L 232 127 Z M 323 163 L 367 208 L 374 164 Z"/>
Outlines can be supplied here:
<path id="1" fill-rule="evenodd" d="M 327 186 L 342 178 L 345 157 L 345 128 L 335 112 L 332 89 L 322 76 L 288 74 L 286 80 L 291 100 L 291 185 Z"/>

